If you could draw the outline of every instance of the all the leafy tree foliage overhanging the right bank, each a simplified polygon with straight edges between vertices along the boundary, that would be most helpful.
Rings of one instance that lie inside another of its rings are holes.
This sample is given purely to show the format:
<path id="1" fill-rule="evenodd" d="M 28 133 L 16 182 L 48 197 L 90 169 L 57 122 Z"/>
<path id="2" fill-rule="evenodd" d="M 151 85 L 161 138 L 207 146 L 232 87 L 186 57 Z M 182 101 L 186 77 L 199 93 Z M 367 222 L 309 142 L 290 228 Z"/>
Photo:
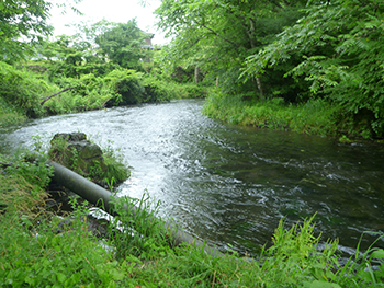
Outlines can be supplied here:
<path id="1" fill-rule="evenodd" d="M 384 135 L 383 11 L 376 0 L 166 0 L 156 12 L 173 37 L 168 69 L 197 67 L 216 80 L 218 114 L 229 99 L 298 107 L 320 99 L 338 134 L 369 138 Z"/>

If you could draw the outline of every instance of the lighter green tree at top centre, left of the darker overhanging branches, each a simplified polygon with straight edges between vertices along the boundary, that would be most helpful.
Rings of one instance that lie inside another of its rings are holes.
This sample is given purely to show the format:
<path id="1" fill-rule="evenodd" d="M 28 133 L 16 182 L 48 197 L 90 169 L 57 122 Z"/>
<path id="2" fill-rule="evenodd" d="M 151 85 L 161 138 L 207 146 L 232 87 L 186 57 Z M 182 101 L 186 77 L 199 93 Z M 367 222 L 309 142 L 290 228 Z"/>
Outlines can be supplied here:
<path id="1" fill-rule="evenodd" d="M 173 36 L 168 61 L 210 71 L 227 93 L 258 91 L 262 97 L 257 74 L 246 83 L 238 80 L 242 62 L 294 23 L 303 5 L 303 0 L 165 0 L 156 13 L 159 27 Z"/>

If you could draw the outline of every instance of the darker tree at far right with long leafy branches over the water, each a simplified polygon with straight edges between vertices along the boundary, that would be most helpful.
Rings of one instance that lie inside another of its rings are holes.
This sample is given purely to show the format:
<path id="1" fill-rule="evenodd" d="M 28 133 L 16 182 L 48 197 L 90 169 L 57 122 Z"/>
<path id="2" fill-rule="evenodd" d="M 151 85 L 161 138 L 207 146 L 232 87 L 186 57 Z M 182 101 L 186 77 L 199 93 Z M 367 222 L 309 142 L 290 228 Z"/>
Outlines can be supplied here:
<path id="1" fill-rule="evenodd" d="M 313 1 L 296 25 L 247 59 L 255 76 L 284 67 L 286 78 L 309 83 L 312 97 L 340 105 L 345 113 L 384 133 L 384 2 Z M 366 131 L 369 133 L 369 131 Z"/>

